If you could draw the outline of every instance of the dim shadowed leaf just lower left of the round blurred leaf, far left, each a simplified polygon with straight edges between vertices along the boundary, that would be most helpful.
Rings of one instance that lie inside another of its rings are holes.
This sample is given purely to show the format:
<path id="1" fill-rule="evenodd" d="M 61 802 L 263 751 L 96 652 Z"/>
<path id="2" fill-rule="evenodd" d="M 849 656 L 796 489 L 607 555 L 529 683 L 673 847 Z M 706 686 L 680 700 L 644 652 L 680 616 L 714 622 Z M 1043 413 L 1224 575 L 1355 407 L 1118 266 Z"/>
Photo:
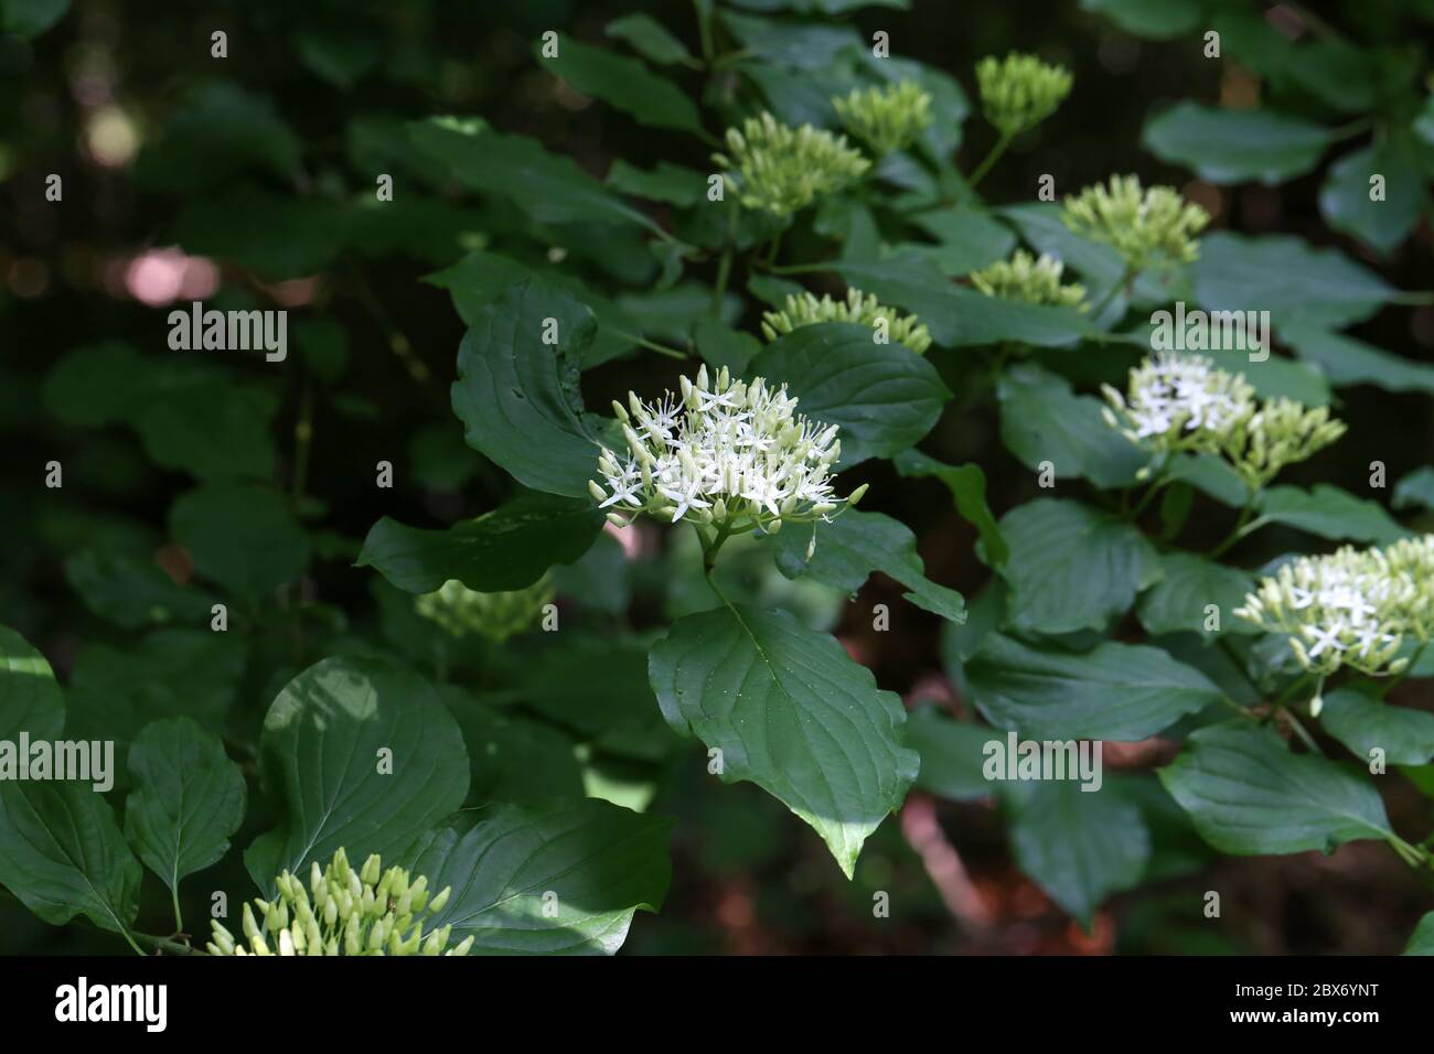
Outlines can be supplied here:
<path id="1" fill-rule="evenodd" d="M 126 552 L 77 552 L 65 561 L 65 578 L 86 608 L 126 630 L 208 622 L 214 605 L 211 594 L 179 585 L 158 564 Z"/>

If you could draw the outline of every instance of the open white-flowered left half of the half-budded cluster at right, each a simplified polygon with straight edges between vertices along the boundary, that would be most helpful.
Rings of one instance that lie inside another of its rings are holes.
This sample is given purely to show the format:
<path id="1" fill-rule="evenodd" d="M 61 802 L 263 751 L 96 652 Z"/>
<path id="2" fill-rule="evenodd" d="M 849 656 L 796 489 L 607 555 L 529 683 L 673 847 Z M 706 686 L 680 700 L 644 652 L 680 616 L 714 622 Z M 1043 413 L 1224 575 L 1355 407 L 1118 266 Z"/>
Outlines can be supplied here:
<path id="1" fill-rule="evenodd" d="M 1111 387 L 1104 391 L 1133 442 L 1160 437 L 1170 449 L 1200 449 L 1255 413 L 1255 389 L 1205 356 L 1159 351 L 1130 371 L 1126 397 Z M 1114 414 L 1107 420 L 1116 424 Z"/>

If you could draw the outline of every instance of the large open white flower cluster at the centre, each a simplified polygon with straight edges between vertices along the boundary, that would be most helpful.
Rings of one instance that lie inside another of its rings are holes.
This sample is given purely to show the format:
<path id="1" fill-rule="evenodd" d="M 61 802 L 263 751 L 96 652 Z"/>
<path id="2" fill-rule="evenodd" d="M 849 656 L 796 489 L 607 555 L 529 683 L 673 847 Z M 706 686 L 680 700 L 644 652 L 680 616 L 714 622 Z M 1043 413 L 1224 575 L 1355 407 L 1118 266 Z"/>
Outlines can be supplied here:
<path id="1" fill-rule="evenodd" d="M 826 519 L 842 502 L 832 492 L 837 426 L 796 413 L 786 384 L 773 390 L 761 377 L 747 384 L 726 367 L 710 379 L 703 366 L 695 380 L 681 379 L 681 394 L 644 403 L 628 393 L 627 409 L 612 406 L 628 452 L 604 449 L 598 470 L 607 489 L 597 482 L 588 489 L 619 526 L 647 513 L 773 533 L 783 521 Z M 855 505 L 865 489 L 846 502 Z"/>

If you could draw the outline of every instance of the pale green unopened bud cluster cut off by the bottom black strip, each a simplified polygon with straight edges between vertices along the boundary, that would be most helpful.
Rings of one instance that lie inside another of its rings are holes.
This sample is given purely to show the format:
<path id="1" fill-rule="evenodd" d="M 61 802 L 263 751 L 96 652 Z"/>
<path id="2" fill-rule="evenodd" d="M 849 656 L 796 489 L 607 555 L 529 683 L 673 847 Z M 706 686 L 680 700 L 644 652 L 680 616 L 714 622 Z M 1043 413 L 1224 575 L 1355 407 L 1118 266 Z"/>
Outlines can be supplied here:
<path id="1" fill-rule="evenodd" d="M 310 868 L 308 888 L 284 872 L 278 896 L 255 899 L 258 919 L 244 905 L 244 939 L 212 921 L 211 955 L 467 955 L 473 938 L 447 946 L 453 926 L 424 932 L 427 916 L 443 911 L 452 889 L 429 896 L 426 876 L 403 868 L 383 870 L 377 855 L 354 870 L 340 849 L 333 863 Z"/>

